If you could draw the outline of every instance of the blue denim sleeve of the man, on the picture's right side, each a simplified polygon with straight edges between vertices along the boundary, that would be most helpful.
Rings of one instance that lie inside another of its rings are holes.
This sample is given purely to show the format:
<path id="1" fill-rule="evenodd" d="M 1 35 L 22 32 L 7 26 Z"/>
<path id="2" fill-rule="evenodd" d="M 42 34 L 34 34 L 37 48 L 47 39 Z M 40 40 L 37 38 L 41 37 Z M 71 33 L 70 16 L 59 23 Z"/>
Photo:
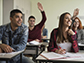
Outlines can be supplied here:
<path id="1" fill-rule="evenodd" d="M 19 43 L 16 45 L 13 44 L 11 45 L 11 47 L 15 49 L 16 51 L 24 50 L 27 44 L 27 39 L 28 39 L 28 28 L 26 27 L 23 33 L 21 34 Z"/>

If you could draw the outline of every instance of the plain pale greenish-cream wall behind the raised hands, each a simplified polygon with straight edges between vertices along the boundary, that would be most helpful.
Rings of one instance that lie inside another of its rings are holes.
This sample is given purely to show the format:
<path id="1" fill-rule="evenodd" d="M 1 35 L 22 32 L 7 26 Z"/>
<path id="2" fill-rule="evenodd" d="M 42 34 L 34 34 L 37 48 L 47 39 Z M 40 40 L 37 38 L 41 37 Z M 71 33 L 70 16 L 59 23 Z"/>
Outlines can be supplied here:
<path id="1" fill-rule="evenodd" d="M 58 27 L 58 17 L 62 13 L 70 12 L 71 15 L 73 15 L 74 9 L 79 8 L 79 16 L 84 16 L 84 0 L 31 0 L 31 14 L 36 17 L 36 24 L 41 20 L 41 14 L 37 8 L 37 2 L 42 3 L 43 8 L 46 12 L 46 28 L 49 32 L 48 36 L 50 36 L 50 33 L 54 28 Z"/>

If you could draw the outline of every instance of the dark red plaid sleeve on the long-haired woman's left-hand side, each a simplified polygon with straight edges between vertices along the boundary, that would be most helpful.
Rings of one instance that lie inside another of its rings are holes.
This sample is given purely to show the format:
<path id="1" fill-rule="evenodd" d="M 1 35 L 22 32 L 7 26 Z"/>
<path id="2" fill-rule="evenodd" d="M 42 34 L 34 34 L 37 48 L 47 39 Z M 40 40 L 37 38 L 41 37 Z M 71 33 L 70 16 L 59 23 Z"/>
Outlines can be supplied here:
<path id="1" fill-rule="evenodd" d="M 58 49 L 57 44 L 54 39 L 54 37 L 56 35 L 56 34 L 54 34 L 54 32 L 55 32 L 54 30 L 51 32 L 50 42 L 49 42 L 49 46 L 48 46 L 49 52 L 55 52 Z"/>

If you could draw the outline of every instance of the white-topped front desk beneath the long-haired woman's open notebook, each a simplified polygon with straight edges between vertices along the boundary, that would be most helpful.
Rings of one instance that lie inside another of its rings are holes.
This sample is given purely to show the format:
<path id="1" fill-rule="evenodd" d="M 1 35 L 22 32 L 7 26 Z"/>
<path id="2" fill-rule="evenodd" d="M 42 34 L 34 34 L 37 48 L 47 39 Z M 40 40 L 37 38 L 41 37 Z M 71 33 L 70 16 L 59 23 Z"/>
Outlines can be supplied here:
<path id="1" fill-rule="evenodd" d="M 47 53 L 47 52 L 43 52 L 43 53 Z M 78 53 L 82 53 L 84 54 L 84 51 L 79 51 Z M 42 57 L 41 55 L 39 55 L 36 58 L 36 63 L 84 63 L 84 59 L 79 59 L 79 60 L 71 60 L 71 59 L 56 59 L 56 60 L 47 60 L 44 57 Z"/>

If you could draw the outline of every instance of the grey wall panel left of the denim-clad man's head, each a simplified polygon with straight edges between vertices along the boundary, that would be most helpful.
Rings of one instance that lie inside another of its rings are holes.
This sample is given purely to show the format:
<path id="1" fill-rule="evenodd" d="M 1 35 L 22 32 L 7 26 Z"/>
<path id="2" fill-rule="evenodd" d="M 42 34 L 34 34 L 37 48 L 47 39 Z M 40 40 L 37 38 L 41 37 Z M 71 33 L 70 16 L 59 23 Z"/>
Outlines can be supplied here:
<path id="1" fill-rule="evenodd" d="M 10 11 L 13 9 L 13 0 L 3 0 L 3 24 L 10 22 Z"/>

